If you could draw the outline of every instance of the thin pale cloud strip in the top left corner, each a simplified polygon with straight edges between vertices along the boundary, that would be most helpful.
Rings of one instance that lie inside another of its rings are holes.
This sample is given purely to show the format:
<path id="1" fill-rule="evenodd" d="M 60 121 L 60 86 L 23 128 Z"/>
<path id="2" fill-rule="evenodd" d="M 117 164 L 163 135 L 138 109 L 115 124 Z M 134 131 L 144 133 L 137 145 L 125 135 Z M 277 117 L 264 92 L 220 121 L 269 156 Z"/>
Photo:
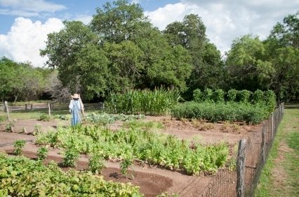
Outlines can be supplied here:
<path id="1" fill-rule="evenodd" d="M 0 0 L 0 5 L 15 10 L 48 13 L 66 9 L 63 5 L 46 2 L 44 0 Z"/>

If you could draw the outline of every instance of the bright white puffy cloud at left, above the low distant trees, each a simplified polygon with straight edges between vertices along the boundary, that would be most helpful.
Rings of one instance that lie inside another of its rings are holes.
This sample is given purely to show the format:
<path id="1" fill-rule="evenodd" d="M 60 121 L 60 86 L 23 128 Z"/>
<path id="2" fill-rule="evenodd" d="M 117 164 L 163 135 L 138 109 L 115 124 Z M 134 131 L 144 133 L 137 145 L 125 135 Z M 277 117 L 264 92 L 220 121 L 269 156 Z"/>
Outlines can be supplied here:
<path id="1" fill-rule="evenodd" d="M 39 50 L 46 47 L 47 34 L 60 31 L 64 25 L 56 18 L 40 21 L 18 17 L 7 35 L 0 34 L 0 57 L 6 56 L 17 62 L 31 61 L 33 66 L 44 66 L 48 57 L 41 57 Z"/>

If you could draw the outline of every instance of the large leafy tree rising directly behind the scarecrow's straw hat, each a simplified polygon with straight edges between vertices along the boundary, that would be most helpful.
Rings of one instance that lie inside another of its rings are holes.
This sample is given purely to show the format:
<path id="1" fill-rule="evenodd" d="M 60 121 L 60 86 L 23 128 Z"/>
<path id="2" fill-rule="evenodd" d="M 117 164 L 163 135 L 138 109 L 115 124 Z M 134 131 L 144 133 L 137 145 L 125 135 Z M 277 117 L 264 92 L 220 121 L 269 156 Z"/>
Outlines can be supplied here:
<path id="1" fill-rule="evenodd" d="M 98 34 L 79 21 L 64 24 L 58 33 L 48 34 L 46 49 L 40 52 L 49 58 L 46 65 L 57 68 L 62 85 L 72 93 L 81 85 L 86 100 L 104 94 L 109 79 L 108 59 L 98 45 Z"/>

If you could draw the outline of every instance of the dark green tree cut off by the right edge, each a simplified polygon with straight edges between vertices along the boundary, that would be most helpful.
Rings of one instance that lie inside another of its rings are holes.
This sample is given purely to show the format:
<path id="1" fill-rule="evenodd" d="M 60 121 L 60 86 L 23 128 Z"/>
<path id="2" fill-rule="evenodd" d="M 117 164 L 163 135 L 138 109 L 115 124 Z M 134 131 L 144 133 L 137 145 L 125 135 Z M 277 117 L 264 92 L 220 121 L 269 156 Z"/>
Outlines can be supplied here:
<path id="1" fill-rule="evenodd" d="M 299 12 L 284 17 L 283 24 L 277 23 L 264 41 L 267 59 L 270 59 L 275 73 L 270 87 L 280 99 L 288 101 L 299 93 Z"/>

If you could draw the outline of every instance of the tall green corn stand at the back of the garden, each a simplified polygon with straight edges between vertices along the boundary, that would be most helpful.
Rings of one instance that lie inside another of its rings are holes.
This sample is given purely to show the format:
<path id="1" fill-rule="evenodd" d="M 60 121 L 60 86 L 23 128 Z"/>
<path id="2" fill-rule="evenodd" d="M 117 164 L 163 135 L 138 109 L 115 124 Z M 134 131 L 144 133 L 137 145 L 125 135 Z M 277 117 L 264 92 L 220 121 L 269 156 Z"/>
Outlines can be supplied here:
<path id="1" fill-rule="evenodd" d="M 179 99 L 178 91 L 127 90 L 124 94 L 110 92 L 105 106 L 109 113 L 167 115 Z"/>

